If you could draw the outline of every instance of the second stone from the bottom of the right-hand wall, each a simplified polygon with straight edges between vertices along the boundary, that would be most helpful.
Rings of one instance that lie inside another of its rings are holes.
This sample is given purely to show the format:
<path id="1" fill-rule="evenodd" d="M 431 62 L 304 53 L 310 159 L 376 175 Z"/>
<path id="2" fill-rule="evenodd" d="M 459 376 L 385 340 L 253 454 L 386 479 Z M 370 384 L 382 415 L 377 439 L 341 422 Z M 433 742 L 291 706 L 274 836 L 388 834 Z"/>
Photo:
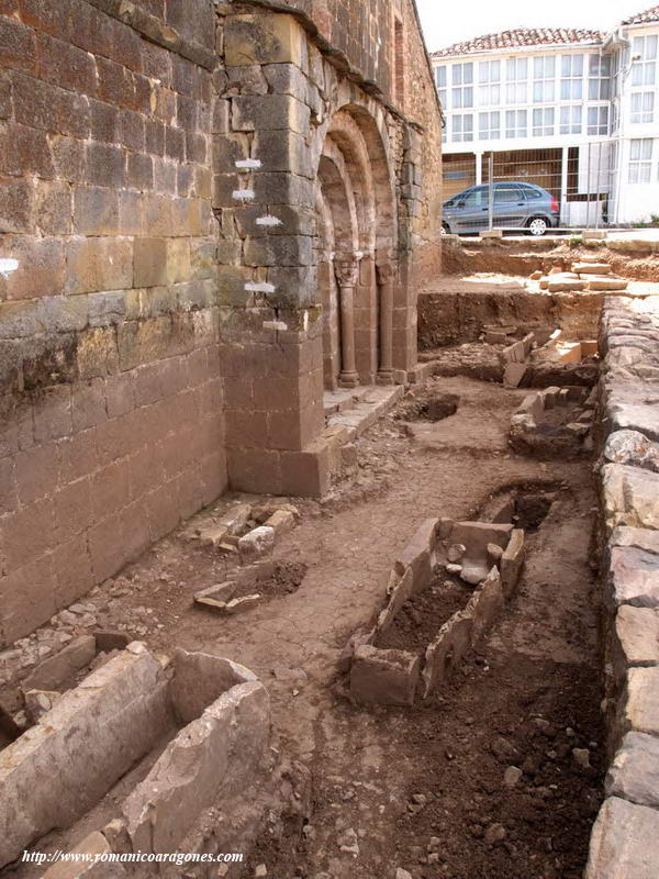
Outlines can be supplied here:
<path id="1" fill-rule="evenodd" d="M 659 738 L 627 733 L 604 782 L 607 797 L 659 809 Z"/>

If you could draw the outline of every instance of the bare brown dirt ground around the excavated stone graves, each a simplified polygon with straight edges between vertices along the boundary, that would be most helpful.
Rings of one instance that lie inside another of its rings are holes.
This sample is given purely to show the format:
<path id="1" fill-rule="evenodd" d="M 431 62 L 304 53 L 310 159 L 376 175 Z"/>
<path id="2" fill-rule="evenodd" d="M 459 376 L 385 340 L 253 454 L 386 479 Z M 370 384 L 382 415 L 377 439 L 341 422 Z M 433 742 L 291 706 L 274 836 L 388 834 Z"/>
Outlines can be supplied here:
<path id="1" fill-rule="evenodd" d="M 398 868 L 414 879 L 581 876 L 603 759 L 591 465 L 507 447 L 523 390 L 459 377 L 433 389 L 459 396 L 456 414 L 410 427 L 392 412 L 358 441 L 359 466 L 325 501 L 294 501 L 301 521 L 278 541 L 264 603 L 233 617 L 193 605 L 235 565 L 191 539 L 204 514 L 90 597 L 99 625 L 119 623 L 156 652 L 204 649 L 252 668 L 282 749 L 310 767 L 304 832 L 261 839 L 230 876 L 260 864 L 277 879 L 395 879 Z M 413 710 L 353 705 L 338 657 L 381 609 L 415 528 L 428 516 L 473 518 L 525 486 L 557 500 L 478 654 Z M 511 787 L 509 767 L 521 770 Z"/>

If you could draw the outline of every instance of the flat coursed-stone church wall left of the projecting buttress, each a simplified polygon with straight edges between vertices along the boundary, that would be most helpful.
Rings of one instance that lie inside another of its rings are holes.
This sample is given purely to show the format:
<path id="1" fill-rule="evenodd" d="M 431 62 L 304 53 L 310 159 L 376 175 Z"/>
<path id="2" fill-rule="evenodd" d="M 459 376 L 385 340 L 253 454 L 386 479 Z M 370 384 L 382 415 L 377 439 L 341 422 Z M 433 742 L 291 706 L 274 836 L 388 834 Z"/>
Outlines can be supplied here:
<path id="1" fill-rule="evenodd" d="M 0 644 L 226 486 L 214 11 L 120 5 L 0 3 Z"/>

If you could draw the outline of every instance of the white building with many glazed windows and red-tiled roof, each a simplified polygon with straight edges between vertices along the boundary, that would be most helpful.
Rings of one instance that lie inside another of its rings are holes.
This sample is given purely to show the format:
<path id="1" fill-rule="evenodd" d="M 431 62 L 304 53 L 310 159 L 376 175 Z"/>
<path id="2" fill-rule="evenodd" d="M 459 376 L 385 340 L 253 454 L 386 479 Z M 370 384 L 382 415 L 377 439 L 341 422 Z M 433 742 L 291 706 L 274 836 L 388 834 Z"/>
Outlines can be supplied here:
<path id="1" fill-rule="evenodd" d="M 659 214 L 659 5 L 612 33 L 520 29 L 432 55 L 444 194 L 527 180 L 560 200 L 562 225 Z"/>

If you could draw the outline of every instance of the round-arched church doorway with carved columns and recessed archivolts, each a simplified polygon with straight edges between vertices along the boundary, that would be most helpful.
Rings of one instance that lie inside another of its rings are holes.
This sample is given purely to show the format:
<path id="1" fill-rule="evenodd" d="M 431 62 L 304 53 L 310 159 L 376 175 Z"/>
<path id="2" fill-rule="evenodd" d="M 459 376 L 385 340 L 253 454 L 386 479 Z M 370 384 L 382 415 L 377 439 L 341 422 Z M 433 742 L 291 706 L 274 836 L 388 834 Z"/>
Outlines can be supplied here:
<path id="1" fill-rule="evenodd" d="M 316 211 L 325 387 L 392 383 L 395 200 L 382 135 L 360 107 L 327 127 Z"/>

